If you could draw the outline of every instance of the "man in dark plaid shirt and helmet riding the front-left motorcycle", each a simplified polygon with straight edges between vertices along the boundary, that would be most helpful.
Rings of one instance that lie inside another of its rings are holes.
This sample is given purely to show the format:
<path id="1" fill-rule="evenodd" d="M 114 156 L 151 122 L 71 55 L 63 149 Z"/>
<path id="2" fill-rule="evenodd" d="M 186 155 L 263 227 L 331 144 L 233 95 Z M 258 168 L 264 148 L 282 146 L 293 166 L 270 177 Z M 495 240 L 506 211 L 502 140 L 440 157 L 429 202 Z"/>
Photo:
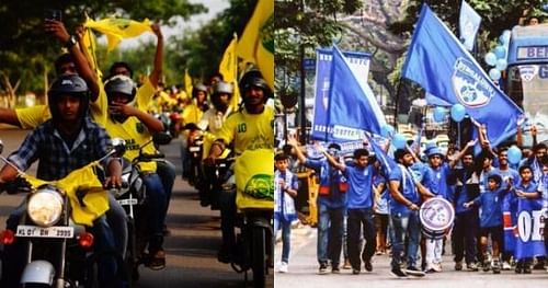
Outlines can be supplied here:
<path id="1" fill-rule="evenodd" d="M 9 161 L 25 171 L 38 160 L 36 176 L 53 181 L 68 175 L 71 171 L 87 165 L 107 154 L 111 140 L 105 130 L 93 123 L 88 116 L 88 85 L 76 74 L 59 77 L 48 92 L 52 119 L 39 125 L 23 141 L 20 149 L 9 157 Z M 111 176 L 105 185 L 119 186 L 122 183 L 122 166 L 114 158 L 103 163 Z M 0 191 L 10 191 L 10 182 L 18 176 L 18 171 L 4 165 L 0 171 Z M 21 205 L 8 219 L 8 229 L 15 231 L 19 219 L 25 212 Z M 116 277 L 118 269 L 115 258 L 115 240 L 113 232 L 102 216 L 94 220 L 90 228 L 96 238 L 95 250 L 99 255 L 105 255 L 99 265 L 99 281 L 101 287 L 121 287 Z M 3 256 L 1 287 L 19 287 L 26 257 L 22 257 L 23 243 L 15 241 L 7 245 Z"/>

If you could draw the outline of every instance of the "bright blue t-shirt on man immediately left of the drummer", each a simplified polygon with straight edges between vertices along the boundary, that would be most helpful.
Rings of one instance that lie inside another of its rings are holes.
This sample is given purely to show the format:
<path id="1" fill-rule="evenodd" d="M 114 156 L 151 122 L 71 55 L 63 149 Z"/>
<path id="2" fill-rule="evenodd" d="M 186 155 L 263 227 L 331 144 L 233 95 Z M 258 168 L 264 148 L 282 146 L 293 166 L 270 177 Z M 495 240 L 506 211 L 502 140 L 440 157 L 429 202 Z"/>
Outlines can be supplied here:
<path id="1" fill-rule="evenodd" d="M 373 208 L 373 176 L 375 168 L 369 164 L 365 168 L 346 166 L 344 175 L 349 181 L 346 193 L 346 208 Z"/>

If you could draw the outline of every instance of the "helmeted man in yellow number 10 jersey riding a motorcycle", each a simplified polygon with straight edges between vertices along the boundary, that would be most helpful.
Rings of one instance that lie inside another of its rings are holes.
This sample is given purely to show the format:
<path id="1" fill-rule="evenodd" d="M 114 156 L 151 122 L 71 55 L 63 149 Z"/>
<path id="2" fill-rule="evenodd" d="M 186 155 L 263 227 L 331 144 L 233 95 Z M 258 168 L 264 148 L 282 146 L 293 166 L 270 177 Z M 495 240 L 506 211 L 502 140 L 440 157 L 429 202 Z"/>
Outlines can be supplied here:
<path id="1" fill-rule="evenodd" d="M 206 164 L 214 164 L 225 147 L 233 143 L 236 157 L 244 150 L 274 149 L 274 110 L 265 105 L 272 96 L 272 90 L 256 70 L 248 71 L 239 82 L 242 93 L 243 107 L 231 114 L 216 134 L 217 139 L 213 142 Z M 274 166 L 274 165 L 273 165 Z M 236 245 L 235 217 L 236 195 L 225 195 L 221 201 L 221 232 L 222 245 L 218 253 L 218 260 L 229 263 L 233 260 Z"/>

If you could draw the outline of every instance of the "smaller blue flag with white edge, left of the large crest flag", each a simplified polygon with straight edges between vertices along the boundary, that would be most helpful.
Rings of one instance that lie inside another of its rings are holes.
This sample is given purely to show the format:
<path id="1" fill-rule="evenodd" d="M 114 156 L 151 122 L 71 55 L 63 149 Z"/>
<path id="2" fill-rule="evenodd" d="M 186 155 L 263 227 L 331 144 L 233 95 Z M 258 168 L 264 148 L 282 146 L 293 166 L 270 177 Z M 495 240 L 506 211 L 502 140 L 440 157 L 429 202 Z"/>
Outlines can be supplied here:
<path id="1" fill-rule="evenodd" d="M 363 139 L 364 131 L 380 135 L 380 127 L 386 125 L 372 89 L 356 77 L 341 50 L 334 46 L 328 105 L 328 126 L 333 126 L 333 133 L 328 135 L 331 141 Z"/>

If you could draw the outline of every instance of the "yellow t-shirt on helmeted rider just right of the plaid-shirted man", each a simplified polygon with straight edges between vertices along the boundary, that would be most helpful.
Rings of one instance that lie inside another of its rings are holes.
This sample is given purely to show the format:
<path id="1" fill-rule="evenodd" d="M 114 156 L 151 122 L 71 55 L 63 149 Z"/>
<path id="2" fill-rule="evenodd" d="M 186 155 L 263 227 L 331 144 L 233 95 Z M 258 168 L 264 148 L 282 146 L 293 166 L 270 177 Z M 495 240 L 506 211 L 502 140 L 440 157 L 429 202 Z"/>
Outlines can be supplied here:
<path id="1" fill-rule="evenodd" d="M 112 138 L 119 137 L 126 141 L 124 158 L 130 161 L 139 157 L 139 148 L 152 139 L 147 126 L 135 116 L 128 117 L 124 123 L 114 122 L 109 117 L 104 128 Z M 153 154 L 156 152 L 153 143 L 145 146 L 142 152 Z M 156 161 L 140 162 L 139 166 L 144 172 L 156 172 Z"/>

